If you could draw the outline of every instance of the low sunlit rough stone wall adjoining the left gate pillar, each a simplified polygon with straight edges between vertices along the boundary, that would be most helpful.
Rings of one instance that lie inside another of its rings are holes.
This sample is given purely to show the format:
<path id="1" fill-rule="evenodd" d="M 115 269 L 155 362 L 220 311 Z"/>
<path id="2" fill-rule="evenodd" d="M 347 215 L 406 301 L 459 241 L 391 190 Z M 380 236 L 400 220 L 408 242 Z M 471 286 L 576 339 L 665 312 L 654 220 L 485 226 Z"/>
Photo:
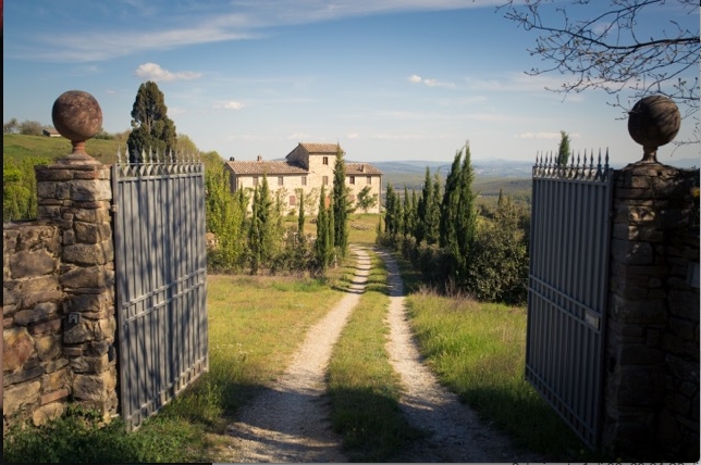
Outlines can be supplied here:
<path id="1" fill-rule="evenodd" d="M 8 422 L 41 424 L 63 412 L 70 394 L 62 348 L 61 241 L 51 224 L 2 229 L 3 431 Z"/>

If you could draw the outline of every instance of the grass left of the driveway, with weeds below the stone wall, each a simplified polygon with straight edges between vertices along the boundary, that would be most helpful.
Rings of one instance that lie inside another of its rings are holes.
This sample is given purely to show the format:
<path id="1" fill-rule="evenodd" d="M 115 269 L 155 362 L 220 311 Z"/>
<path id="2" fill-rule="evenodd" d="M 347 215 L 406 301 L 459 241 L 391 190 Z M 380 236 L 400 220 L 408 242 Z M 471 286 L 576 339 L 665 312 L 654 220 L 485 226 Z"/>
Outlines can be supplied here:
<path id="1" fill-rule="evenodd" d="M 342 297 L 325 279 L 210 275 L 209 372 L 126 433 L 116 418 L 77 409 L 46 426 L 3 438 L 3 463 L 186 463 L 221 460 L 218 435 L 257 389 L 270 382 L 306 329 Z"/>

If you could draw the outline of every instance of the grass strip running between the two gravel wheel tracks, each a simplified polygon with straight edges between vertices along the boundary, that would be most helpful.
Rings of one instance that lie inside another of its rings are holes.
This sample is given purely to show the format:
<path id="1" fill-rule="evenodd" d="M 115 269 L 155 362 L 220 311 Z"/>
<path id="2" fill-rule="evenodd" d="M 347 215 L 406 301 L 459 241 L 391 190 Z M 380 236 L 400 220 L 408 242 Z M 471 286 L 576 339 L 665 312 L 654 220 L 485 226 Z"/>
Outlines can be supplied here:
<path id="1" fill-rule="evenodd" d="M 398 407 L 401 381 L 388 360 L 386 271 L 377 255 L 368 286 L 329 363 L 332 422 L 352 462 L 386 462 L 419 436 Z"/>

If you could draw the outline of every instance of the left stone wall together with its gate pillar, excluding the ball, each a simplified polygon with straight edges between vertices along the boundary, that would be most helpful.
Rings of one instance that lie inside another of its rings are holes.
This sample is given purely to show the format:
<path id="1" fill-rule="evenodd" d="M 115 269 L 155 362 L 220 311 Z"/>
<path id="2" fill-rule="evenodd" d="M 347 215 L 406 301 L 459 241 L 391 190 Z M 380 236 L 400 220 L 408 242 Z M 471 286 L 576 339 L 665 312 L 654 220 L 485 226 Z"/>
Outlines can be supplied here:
<path id="1" fill-rule="evenodd" d="M 3 433 L 67 401 L 116 414 L 109 166 L 37 166 L 38 221 L 3 225 Z"/>

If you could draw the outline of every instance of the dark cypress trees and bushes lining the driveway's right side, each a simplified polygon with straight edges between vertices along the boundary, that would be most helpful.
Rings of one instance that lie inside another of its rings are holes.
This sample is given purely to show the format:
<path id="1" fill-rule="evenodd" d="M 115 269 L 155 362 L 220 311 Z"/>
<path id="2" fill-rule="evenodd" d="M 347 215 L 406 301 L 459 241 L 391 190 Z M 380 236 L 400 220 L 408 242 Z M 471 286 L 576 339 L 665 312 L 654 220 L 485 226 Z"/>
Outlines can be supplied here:
<path id="1" fill-rule="evenodd" d="M 488 216 L 476 209 L 475 172 L 466 144 L 456 151 L 441 188 L 427 167 L 423 188 L 404 188 L 404 199 L 389 185 L 384 230 L 379 243 L 401 250 L 423 279 L 446 292 L 480 300 L 522 303 L 528 279 L 528 222 L 500 192 Z"/>

